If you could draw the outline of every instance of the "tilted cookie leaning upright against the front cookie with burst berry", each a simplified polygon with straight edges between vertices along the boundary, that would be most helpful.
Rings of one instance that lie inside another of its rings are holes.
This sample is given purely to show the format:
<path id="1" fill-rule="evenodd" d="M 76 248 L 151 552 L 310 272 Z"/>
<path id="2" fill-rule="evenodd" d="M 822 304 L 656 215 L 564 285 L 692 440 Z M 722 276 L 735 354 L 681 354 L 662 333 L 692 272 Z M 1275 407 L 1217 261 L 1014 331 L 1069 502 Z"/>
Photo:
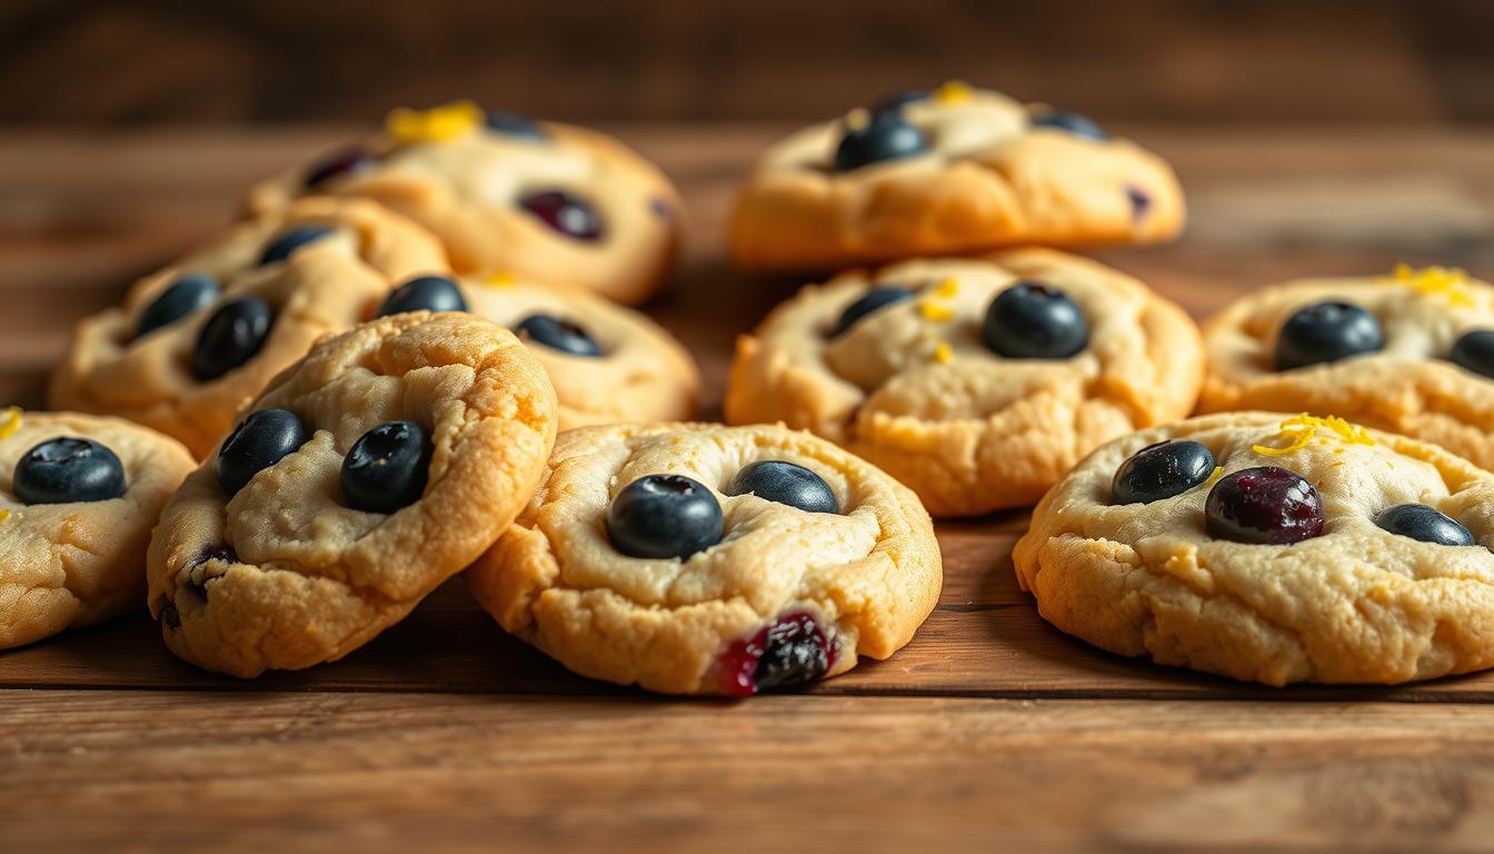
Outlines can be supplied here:
<path id="1" fill-rule="evenodd" d="M 554 431 L 544 369 L 481 317 L 397 314 L 323 341 L 161 513 L 148 573 L 166 645 L 245 678 L 347 655 L 498 538 Z"/>

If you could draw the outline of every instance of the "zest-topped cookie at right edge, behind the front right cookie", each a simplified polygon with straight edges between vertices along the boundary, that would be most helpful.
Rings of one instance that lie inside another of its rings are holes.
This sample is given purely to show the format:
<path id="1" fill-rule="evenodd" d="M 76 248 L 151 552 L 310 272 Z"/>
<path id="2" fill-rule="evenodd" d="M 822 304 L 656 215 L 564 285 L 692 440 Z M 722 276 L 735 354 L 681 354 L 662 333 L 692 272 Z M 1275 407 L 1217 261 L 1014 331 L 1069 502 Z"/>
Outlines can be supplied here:
<path id="1" fill-rule="evenodd" d="M 1334 413 L 1494 468 L 1494 287 L 1463 271 L 1262 289 L 1204 341 L 1200 411 Z"/>

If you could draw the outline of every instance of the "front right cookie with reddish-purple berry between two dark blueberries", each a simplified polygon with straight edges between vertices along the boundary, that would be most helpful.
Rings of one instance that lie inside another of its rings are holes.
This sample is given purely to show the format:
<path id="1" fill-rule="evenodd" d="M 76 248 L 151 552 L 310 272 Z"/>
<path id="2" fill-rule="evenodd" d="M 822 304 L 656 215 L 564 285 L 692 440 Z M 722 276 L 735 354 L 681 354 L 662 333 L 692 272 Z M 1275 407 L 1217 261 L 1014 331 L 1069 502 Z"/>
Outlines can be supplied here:
<path id="1" fill-rule="evenodd" d="M 1043 618 L 1103 649 L 1388 685 L 1494 666 L 1490 546 L 1494 476 L 1467 461 L 1337 417 L 1227 413 L 1097 450 L 1013 559 Z"/>

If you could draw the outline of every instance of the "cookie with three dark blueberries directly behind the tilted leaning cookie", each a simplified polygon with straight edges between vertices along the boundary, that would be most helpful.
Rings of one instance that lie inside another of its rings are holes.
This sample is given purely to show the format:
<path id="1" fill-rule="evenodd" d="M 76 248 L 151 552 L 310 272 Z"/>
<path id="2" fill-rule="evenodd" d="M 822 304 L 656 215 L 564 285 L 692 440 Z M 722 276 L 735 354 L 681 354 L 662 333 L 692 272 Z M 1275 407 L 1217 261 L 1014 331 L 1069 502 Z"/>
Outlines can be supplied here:
<path id="1" fill-rule="evenodd" d="M 49 404 L 143 423 L 203 456 L 317 338 L 363 320 L 393 283 L 445 268 L 433 238 L 371 202 L 297 202 L 82 320 Z"/>

